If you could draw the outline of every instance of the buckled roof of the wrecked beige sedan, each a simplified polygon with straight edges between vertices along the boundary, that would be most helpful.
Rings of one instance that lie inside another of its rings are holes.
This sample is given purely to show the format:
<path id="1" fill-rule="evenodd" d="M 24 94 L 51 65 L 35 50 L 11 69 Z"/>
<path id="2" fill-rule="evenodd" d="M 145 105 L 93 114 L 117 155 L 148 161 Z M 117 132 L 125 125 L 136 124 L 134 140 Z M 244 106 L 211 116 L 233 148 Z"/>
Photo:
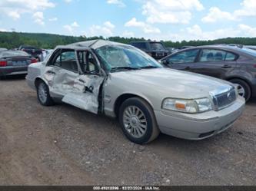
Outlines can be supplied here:
<path id="1" fill-rule="evenodd" d="M 82 48 L 100 48 L 106 45 L 125 45 L 125 46 L 130 46 L 128 44 L 122 44 L 119 42 L 114 42 L 114 41 L 105 41 L 105 40 L 91 40 L 91 41 L 80 41 L 80 42 L 76 42 L 73 44 L 68 44 L 68 45 L 60 45 L 57 46 L 56 48 L 62 48 L 62 49 L 75 49 L 75 50 L 79 50 Z"/>

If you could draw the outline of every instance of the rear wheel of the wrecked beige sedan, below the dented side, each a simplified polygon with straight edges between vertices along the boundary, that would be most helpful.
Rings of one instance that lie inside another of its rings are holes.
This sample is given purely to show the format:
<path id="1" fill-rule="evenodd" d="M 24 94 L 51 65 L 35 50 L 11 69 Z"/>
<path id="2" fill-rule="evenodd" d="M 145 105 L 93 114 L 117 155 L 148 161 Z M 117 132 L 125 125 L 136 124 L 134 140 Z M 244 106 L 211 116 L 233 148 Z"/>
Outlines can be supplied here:
<path id="1" fill-rule="evenodd" d="M 44 81 L 38 81 L 36 85 L 36 92 L 38 96 L 38 101 L 43 106 L 52 106 L 55 102 L 52 100 L 52 97 L 49 94 L 49 88 Z"/>

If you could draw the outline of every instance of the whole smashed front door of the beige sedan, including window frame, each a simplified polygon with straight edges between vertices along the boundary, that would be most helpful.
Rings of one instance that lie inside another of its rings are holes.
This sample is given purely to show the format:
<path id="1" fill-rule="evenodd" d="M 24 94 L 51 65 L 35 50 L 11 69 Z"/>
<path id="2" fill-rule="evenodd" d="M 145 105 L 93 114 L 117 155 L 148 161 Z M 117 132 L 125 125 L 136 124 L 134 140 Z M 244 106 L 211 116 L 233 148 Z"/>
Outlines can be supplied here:
<path id="1" fill-rule="evenodd" d="M 81 74 L 75 78 L 72 91 L 65 94 L 62 101 L 98 114 L 101 108 L 101 85 L 105 73 L 101 71 L 98 59 L 90 50 L 76 51 Z"/>

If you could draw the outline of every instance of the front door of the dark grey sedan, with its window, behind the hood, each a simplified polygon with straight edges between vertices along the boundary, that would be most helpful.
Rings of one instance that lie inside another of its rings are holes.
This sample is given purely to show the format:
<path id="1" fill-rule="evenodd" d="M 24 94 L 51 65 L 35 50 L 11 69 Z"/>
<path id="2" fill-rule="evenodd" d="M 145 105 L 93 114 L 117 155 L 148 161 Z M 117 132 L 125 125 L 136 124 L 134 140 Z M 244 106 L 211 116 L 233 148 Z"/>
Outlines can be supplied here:
<path id="1" fill-rule="evenodd" d="M 176 54 L 172 54 L 165 61 L 165 65 L 169 68 L 191 71 L 194 68 L 194 61 L 198 57 L 199 49 L 190 49 L 187 51 L 180 51 Z"/>

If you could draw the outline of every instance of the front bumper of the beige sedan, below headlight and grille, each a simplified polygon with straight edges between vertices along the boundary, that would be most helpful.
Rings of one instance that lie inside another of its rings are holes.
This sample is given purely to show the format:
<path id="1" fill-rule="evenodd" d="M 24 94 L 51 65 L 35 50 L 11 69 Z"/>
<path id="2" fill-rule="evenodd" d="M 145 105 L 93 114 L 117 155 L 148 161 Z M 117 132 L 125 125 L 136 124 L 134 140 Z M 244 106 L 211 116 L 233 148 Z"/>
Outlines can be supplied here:
<path id="1" fill-rule="evenodd" d="M 227 130 L 244 110 L 244 98 L 229 107 L 201 114 L 181 114 L 168 110 L 155 110 L 161 133 L 188 140 L 202 140 Z"/>

